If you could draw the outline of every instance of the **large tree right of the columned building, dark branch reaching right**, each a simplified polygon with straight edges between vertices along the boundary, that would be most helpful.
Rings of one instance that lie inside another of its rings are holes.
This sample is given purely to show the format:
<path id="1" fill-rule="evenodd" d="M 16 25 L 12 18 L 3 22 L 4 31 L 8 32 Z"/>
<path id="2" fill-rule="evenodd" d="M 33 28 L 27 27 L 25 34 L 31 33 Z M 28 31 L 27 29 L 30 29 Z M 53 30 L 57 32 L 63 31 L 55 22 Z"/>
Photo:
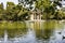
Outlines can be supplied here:
<path id="1" fill-rule="evenodd" d="M 36 1 L 36 9 L 39 9 L 42 11 L 42 18 L 46 19 L 50 19 L 50 18 L 54 18 L 54 15 L 57 11 L 56 6 L 60 5 L 62 6 L 61 3 L 58 3 L 58 1 L 50 1 L 50 0 L 37 0 Z"/>

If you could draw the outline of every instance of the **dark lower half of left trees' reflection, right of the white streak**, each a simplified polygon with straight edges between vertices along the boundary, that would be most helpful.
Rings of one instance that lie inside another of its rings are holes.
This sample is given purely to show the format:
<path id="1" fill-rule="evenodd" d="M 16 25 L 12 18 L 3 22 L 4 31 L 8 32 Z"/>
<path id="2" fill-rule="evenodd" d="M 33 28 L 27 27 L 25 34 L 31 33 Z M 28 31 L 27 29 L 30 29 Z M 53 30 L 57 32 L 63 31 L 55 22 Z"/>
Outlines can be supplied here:
<path id="1" fill-rule="evenodd" d="M 9 38 L 14 38 L 14 37 L 22 37 L 24 34 L 26 34 L 27 29 L 14 29 L 14 30 L 8 30 L 8 35 Z"/>

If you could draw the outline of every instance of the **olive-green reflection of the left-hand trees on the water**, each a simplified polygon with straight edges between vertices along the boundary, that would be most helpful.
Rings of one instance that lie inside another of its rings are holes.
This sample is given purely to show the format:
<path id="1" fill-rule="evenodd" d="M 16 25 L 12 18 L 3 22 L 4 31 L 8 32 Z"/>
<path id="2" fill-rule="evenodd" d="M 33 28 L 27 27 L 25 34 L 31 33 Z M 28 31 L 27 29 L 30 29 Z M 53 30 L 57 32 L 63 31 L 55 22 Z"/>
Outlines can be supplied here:
<path id="1" fill-rule="evenodd" d="M 18 23 L 15 23 L 15 25 L 14 25 L 14 23 L 12 23 L 12 25 L 13 25 L 12 29 L 10 27 L 10 23 L 9 23 L 6 29 L 0 29 L 0 38 L 4 38 L 4 31 L 5 30 L 8 32 L 8 38 L 9 39 L 10 38 L 15 38 L 15 37 L 18 38 L 18 37 L 22 37 L 22 35 L 27 33 L 27 28 L 26 28 L 25 23 L 18 22 Z"/>

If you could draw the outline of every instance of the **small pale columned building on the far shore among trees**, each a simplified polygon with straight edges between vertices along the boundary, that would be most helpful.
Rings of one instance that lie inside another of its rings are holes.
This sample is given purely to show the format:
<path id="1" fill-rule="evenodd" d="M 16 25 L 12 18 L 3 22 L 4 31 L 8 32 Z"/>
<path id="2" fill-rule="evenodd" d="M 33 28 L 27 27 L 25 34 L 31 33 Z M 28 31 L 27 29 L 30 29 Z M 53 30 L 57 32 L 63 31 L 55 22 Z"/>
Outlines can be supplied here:
<path id="1" fill-rule="evenodd" d="M 30 11 L 30 20 L 41 20 L 41 11 L 40 10 L 34 10 Z"/>

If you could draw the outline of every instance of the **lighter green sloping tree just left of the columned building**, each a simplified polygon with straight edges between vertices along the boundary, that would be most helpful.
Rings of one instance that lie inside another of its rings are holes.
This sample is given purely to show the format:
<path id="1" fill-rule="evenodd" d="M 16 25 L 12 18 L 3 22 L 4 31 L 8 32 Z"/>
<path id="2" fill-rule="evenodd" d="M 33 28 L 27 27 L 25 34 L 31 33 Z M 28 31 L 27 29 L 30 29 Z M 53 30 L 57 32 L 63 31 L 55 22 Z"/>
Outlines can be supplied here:
<path id="1" fill-rule="evenodd" d="M 22 9 L 20 11 L 20 13 L 17 14 L 18 16 L 18 20 L 26 20 L 26 19 L 29 19 L 29 11 L 27 11 L 26 9 Z"/>

